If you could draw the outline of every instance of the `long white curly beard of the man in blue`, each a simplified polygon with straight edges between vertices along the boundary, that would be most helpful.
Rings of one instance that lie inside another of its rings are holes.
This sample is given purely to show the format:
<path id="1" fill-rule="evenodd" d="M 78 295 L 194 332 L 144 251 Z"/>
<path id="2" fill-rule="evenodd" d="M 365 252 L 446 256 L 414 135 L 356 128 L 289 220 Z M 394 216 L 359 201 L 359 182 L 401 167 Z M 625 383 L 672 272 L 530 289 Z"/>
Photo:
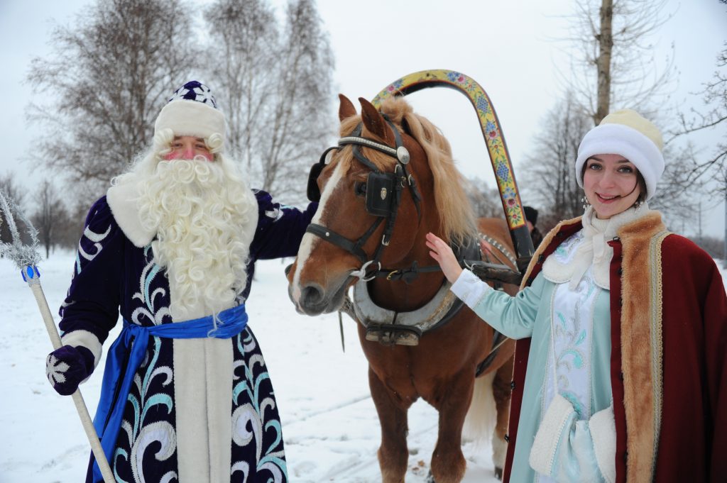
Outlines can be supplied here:
<path id="1" fill-rule="evenodd" d="M 140 182 L 139 215 L 156 229 L 151 243 L 166 268 L 174 320 L 217 314 L 233 307 L 246 285 L 253 230 L 244 230 L 257 211 L 252 192 L 234 166 L 219 156 L 159 161 Z"/>

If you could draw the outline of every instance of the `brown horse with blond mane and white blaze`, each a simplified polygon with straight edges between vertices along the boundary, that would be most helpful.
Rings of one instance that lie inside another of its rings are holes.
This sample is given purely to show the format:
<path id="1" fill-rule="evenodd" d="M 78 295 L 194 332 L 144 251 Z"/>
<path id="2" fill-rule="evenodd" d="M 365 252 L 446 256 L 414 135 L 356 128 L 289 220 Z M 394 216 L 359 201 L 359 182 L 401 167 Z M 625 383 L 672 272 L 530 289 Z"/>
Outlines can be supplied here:
<path id="1" fill-rule="evenodd" d="M 361 116 L 346 97 L 340 96 L 340 101 L 342 139 L 331 148 L 332 155 L 324 162 L 326 151 L 311 171 L 309 183 L 313 182 L 314 192 L 317 188 L 320 205 L 288 272 L 292 301 L 305 314 L 334 312 L 347 298 L 348 288 L 358 282 L 356 288 L 364 287 L 371 305 L 393 313 L 395 320 L 397 315 L 403 319 L 405 314 L 419 313 L 417 309 L 430 305 L 437 294 L 448 294 L 443 299 L 451 302 L 454 297 L 442 272 L 435 270 L 425 235 L 433 232 L 453 245 L 465 245 L 477 239 L 478 228 L 449 143 L 402 99 L 385 101 L 379 113 L 361 98 Z M 480 230 L 494 240 L 493 245 L 507 246 L 512 253 L 504 221 L 483 220 Z M 515 290 L 507 288 L 510 293 Z M 494 396 L 497 409 L 493 459 L 496 473 L 501 474 L 513 341 L 493 351 L 494 330 L 467 307 L 421 334 L 417 328 L 400 330 L 399 325 L 358 318 L 371 397 L 381 423 L 378 457 L 383 482 L 404 480 L 409 458 L 407 410 L 419 397 L 439 412 L 430 466 L 433 479 L 462 480 L 466 466 L 462 427 L 473 400 L 475 374 L 488 356 L 489 365 L 482 372 L 489 376 L 482 379 L 490 382 L 486 390 Z M 367 332 L 374 340 L 367 339 Z M 473 410 L 488 410 L 478 406 Z"/>

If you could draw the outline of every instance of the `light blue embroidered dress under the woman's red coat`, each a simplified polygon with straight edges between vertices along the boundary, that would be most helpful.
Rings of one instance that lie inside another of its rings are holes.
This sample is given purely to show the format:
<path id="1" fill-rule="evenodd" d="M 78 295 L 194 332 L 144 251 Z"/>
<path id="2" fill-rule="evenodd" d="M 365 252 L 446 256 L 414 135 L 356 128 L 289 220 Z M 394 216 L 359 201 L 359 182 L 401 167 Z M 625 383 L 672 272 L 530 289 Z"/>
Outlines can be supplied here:
<path id="1" fill-rule="evenodd" d="M 582 242 L 578 232 L 552 256 L 567 258 Z M 531 338 L 511 482 L 611 480 L 610 471 L 604 476 L 601 469 L 614 466 L 615 456 L 609 292 L 595 283 L 592 267 L 572 285 L 540 273 L 531 286 L 509 296 L 465 270 L 451 289 L 505 336 Z M 604 434 L 614 439 L 612 450 Z"/>

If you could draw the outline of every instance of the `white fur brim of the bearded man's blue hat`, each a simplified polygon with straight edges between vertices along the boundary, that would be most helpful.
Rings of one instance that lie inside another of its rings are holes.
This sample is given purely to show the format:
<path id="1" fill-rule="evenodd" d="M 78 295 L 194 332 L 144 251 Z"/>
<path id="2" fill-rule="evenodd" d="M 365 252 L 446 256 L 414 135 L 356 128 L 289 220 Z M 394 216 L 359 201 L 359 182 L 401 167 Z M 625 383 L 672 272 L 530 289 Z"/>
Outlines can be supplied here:
<path id="1" fill-rule="evenodd" d="M 162 107 L 154 123 L 154 134 L 172 129 L 174 136 L 225 137 L 225 115 L 212 106 L 193 100 L 173 100 Z"/>

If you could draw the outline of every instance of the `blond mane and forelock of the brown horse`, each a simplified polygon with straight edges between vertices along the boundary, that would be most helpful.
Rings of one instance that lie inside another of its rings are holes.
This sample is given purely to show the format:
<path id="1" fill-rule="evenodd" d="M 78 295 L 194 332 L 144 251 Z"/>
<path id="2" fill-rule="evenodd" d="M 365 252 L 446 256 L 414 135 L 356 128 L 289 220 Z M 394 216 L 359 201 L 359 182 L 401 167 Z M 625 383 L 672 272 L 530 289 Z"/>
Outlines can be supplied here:
<path id="1" fill-rule="evenodd" d="M 401 97 L 385 100 L 380 110 L 397 125 L 399 131 L 403 131 L 401 125 L 405 122 L 411 137 L 427 153 L 434 179 L 434 199 L 444 237 L 459 245 L 475 236 L 475 215 L 464 189 L 467 180 L 454 166 L 449 142 L 438 127 L 424 116 L 415 114 L 409 102 Z M 361 118 L 358 115 L 344 119 L 341 123 L 341 135 L 349 135 L 359 122 Z M 391 164 L 391 158 L 386 155 L 371 156 L 371 161 L 381 169 Z"/>

